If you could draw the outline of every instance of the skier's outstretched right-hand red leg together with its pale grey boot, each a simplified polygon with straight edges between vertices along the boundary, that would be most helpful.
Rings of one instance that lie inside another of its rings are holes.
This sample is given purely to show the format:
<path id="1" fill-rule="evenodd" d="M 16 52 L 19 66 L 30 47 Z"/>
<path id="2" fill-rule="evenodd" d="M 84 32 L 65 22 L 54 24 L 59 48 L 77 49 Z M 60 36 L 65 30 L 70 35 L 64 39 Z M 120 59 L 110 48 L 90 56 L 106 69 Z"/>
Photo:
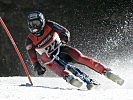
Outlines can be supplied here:
<path id="1" fill-rule="evenodd" d="M 119 85 L 122 85 L 124 83 L 124 80 L 121 79 L 118 75 L 112 73 L 109 68 L 105 68 L 105 66 L 99 63 L 98 61 L 87 56 L 84 56 L 79 50 L 75 48 L 69 46 L 62 46 L 61 52 L 68 54 L 78 63 L 87 65 L 93 70 L 105 75 L 108 79 L 116 82 Z"/>

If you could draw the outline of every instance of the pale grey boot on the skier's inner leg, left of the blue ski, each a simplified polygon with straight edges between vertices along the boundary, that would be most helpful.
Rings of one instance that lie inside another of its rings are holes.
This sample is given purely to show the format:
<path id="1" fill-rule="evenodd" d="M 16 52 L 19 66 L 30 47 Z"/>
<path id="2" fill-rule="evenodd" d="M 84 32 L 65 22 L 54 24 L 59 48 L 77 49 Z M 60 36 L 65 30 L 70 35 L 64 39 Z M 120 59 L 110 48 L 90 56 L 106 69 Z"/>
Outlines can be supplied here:
<path id="1" fill-rule="evenodd" d="M 72 75 L 65 75 L 63 79 L 66 80 L 66 82 L 70 83 L 71 85 L 80 88 L 83 83 L 79 81 L 78 79 L 74 78 Z"/>

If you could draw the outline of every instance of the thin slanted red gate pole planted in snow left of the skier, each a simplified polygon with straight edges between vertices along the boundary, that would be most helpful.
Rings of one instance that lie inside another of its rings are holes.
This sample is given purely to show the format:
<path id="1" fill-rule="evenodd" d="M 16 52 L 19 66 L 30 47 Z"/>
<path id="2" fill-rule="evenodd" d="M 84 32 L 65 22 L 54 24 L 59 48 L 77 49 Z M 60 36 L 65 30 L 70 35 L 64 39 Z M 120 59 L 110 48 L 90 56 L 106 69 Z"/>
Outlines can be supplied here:
<path id="1" fill-rule="evenodd" d="M 27 75 L 27 77 L 28 77 L 28 79 L 29 79 L 29 82 L 31 83 L 31 85 L 33 85 L 32 81 L 31 81 L 31 78 L 30 78 L 30 74 L 29 74 L 28 69 L 27 69 L 27 67 L 26 67 L 26 64 L 24 63 L 24 60 L 23 60 L 23 58 L 22 58 L 22 55 L 20 54 L 20 52 L 19 52 L 19 50 L 18 50 L 18 47 L 17 47 L 17 45 L 16 45 L 16 43 L 15 43 L 13 37 L 11 36 L 11 33 L 9 32 L 8 28 L 6 27 L 4 21 L 2 20 L 1 17 L 0 17 L 0 23 L 2 24 L 3 28 L 5 29 L 5 31 L 6 31 L 6 33 L 7 33 L 7 36 L 9 37 L 9 39 L 10 39 L 10 41 L 11 41 L 13 47 L 15 48 L 15 51 L 16 51 L 16 53 L 17 53 L 17 55 L 18 55 L 18 57 L 19 57 L 19 59 L 20 59 L 22 65 L 23 65 L 23 68 L 24 68 L 24 70 L 25 70 L 25 73 L 26 73 L 26 75 Z"/>

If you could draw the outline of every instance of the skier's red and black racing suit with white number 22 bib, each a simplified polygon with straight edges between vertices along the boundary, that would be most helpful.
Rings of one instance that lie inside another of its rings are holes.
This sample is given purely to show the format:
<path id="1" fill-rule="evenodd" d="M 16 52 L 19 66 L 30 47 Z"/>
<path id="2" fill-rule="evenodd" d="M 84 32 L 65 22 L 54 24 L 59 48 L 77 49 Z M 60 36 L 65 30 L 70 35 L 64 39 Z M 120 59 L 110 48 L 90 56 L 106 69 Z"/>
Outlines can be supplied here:
<path id="1" fill-rule="evenodd" d="M 39 53 L 43 63 L 49 62 L 51 60 L 51 55 L 57 50 L 59 43 L 63 41 L 62 38 L 60 38 L 61 35 L 65 33 L 69 33 L 69 31 L 51 21 L 46 22 L 43 34 L 41 36 L 37 37 L 30 33 L 27 37 L 26 49 L 32 64 L 34 65 L 34 63 L 38 62 L 37 53 Z M 63 59 L 64 56 L 61 54 L 64 54 L 66 57 L 68 57 L 68 59 L 65 60 L 74 60 L 77 63 L 84 64 L 99 73 L 103 73 L 103 71 L 106 69 L 101 63 L 92 58 L 84 56 L 79 50 L 70 46 L 62 45 L 60 47 L 60 57 Z M 68 74 L 68 72 L 66 72 L 64 68 L 56 61 L 46 64 L 46 67 L 60 77 Z"/>

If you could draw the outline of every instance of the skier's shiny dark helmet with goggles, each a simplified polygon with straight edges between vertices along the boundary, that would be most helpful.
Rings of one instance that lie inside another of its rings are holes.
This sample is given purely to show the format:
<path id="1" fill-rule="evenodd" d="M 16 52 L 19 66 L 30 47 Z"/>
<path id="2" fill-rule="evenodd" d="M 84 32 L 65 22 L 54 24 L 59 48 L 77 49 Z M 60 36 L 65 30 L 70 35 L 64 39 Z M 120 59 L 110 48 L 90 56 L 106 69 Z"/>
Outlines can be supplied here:
<path id="1" fill-rule="evenodd" d="M 41 12 L 34 11 L 28 15 L 28 27 L 32 34 L 40 36 L 42 33 L 41 31 L 44 28 L 44 25 L 45 18 Z"/>

